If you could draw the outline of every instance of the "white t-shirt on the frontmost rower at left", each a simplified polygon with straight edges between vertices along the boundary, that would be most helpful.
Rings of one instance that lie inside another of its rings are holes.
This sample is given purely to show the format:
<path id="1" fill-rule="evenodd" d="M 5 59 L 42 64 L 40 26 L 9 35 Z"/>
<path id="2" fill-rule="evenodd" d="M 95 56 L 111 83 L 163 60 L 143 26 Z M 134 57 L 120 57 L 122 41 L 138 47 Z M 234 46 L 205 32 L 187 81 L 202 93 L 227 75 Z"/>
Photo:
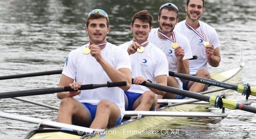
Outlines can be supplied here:
<path id="1" fill-rule="evenodd" d="M 75 82 L 81 82 L 82 85 L 111 82 L 100 63 L 90 54 L 86 55 L 83 53 L 84 47 L 88 47 L 88 45 L 89 44 L 85 44 L 69 53 L 62 74 L 74 79 Z M 127 51 L 108 42 L 100 53 L 105 61 L 116 70 L 120 68 L 128 68 L 131 70 L 131 63 Z M 114 102 L 119 106 L 121 116 L 124 116 L 124 91 L 119 87 L 100 87 L 90 90 L 81 90 L 81 93 L 75 96 L 75 99 L 79 102 L 90 103 L 91 105 L 97 105 L 100 100 Z"/>

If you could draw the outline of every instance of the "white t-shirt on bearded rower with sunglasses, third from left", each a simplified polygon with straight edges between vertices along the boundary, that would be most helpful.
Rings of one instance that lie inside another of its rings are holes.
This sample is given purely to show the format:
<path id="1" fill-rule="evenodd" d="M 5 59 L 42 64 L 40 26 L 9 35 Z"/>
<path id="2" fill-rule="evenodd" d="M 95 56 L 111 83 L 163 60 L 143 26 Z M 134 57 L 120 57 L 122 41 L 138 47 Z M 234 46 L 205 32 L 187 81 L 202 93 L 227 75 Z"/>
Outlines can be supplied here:
<path id="1" fill-rule="evenodd" d="M 156 47 L 160 48 L 166 55 L 169 64 L 169 71 L 177 72 L 177 57 L 174 54 L 174 49 L 172 48 L 172 41 L 168 39 L 161 39 L 158 37 L 158 29 L 159 28 L 152 28 L 151 32 L 149 33 L 148 40 L 155 44 Z M 183 60 L 192 58 L 191 47 L 187 37 L 184 35 L 174 32 L 176 35 L 176 42 L 184 49 L 184 57 Z M 179 78 L 176 78 L 177 81 L 182 84 Z"/>

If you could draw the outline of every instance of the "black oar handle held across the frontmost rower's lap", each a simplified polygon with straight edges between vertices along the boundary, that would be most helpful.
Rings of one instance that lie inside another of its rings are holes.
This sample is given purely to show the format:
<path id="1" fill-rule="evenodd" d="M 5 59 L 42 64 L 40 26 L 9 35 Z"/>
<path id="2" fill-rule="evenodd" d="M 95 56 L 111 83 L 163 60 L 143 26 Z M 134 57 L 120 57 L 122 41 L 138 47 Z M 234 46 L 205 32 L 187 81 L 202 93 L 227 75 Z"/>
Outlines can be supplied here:
<path id="1" fill-rule="evenodd" d="M 95 89 L 99 87 L 121 87 L 126 86 L 127 82 L 107 82 L 106 84 L 86 84 L 81 85 L 79 90 Z M 64 91 L 74 91 L 71 87 L 64 87 Z"/>

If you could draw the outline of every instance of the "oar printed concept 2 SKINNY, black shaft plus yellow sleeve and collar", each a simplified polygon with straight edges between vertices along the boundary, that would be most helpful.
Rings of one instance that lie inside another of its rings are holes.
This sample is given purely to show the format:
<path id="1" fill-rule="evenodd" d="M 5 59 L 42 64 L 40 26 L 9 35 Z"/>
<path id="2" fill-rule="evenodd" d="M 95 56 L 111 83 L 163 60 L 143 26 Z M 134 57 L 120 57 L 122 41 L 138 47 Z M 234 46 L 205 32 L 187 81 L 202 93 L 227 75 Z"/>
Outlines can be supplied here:
<path id="1" fill-rule="evenodd" d="M 174 77 L 182 78 L 185 80 L 190 80 L 190 81 L 194 81 L 194 82 L 200 82 L 200 83 L 209 84 L 212 86 L 235 90 L 235 91 L 242 93 L 243 95 L 246 95 L 248 97 L 249 97 L 249 95 L 256 96 L 256 88 L 250 87 L 248 84 L 233 85 L 233 84 L 229 84 L 229 83 L 225 83 L 225 82 L 219 82 L 219 81 L 215 81 L 215 80 L 211 80 L 211 79 L 196 77 L 196 76 L 182 74 L 182 73 L 170 72 L 170 71 L 169 71 L 169 76 L 174 76 Z"/>

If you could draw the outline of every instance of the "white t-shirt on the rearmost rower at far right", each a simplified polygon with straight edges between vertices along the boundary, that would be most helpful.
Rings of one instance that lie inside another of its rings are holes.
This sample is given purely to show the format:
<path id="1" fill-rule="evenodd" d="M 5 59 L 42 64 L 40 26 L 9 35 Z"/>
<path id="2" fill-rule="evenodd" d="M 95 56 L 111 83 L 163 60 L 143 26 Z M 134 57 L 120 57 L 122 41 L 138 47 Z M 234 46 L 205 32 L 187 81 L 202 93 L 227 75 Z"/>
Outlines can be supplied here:
<path id="1" fill-rule="evenodd" d="M 207 25 L 206 23 L 199 21 L 200 27 L 202 28 L 208 42 L 210 44 L 213 44 L 214 49 L 220 46 L 219 42 L 219 37 L 216 32 L 216 30 Z M 198 27 L 196 30 L 202 35 L 202 31 Z M 206 52 L 205 52 L 205 47 L 203 46 L 203 39 L 199 37 L 194 31 L 191 29 L 188 29 L 185 20 L 182 22 L 179 22 L 175 28 L 175 31 L 180 32 L 184 36 L 186 36 L 190 42 L 191 50 L 193 55 L 197 55 L 196 60 L 190 60 L 189 61 L 189 69 L 190 69 L 190 74 L 196 74 L 199 69 L 206 69 L 209 71 L 207 67 L 207 57 L 206 57 Z"/>

